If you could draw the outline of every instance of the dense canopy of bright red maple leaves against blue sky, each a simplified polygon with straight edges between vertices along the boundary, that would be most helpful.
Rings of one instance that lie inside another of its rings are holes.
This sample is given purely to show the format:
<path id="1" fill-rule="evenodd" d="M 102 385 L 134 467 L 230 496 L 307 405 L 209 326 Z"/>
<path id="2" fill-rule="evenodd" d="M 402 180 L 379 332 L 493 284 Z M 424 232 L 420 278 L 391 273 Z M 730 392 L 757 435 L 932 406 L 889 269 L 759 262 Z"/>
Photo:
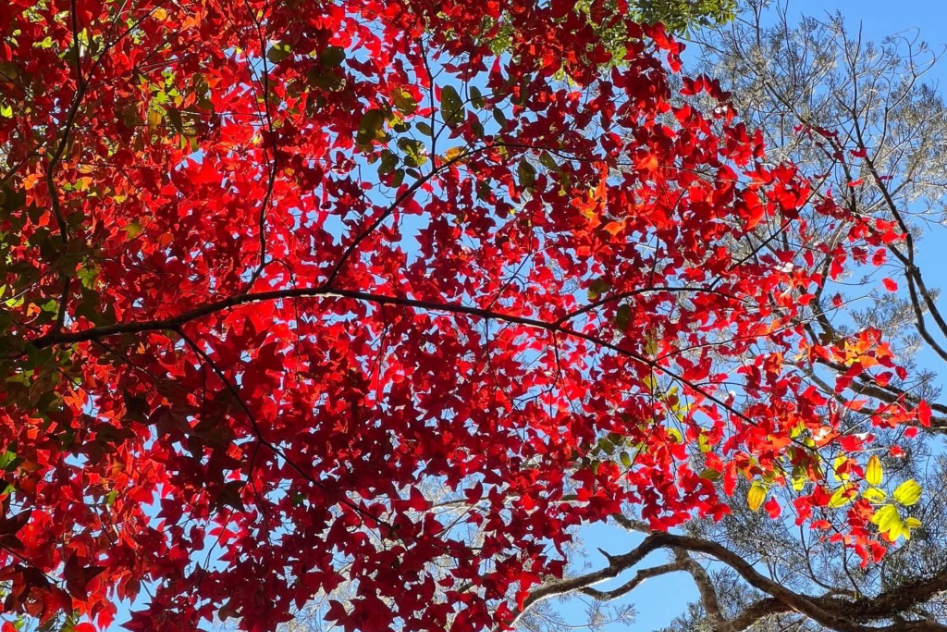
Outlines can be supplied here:
<path id="1" fill-rule="evenodd" d="M 898 371 L 800 335 L 897 233 L 848 217 L 815 269 L 806 179 L 625 9 L 0 10 L 4 611 L 147 589 L 132 630 L 272 630 L 348 584 L 348 631 L 496 629 L 570 528 L 719 517 L 741 477 L 880 558 L 871 429 L 798 368 Z"/>

